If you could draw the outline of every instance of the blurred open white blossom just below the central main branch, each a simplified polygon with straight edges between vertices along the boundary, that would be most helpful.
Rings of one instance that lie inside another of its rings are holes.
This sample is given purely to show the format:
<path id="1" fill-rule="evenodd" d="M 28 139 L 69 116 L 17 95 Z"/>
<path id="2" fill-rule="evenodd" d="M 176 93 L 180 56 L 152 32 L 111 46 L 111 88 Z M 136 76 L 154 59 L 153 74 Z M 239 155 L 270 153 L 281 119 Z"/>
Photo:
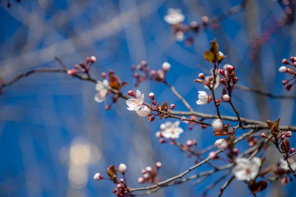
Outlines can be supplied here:
<path id="1" fill-rule="evenodd" d="M 183 129 L 179 127 L 180 121 L 176 121 L 174 123 L 167 121 L 161 127 L 163 127 L 161 131 L 161 135 L 165 138 L 176 139 L 179 137 L 181 133 L 183 133 Z M 165 126 L 165 128 L 164 128 Z"/>

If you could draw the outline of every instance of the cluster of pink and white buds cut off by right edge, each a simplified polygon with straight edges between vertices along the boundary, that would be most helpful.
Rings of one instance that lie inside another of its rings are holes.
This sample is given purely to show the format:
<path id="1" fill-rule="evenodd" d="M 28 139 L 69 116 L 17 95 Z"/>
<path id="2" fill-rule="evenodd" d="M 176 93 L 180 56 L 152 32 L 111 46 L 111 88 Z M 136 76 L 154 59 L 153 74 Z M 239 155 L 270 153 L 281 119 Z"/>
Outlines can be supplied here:
<path id="1" fill-rule="evenodd" d="M 285 86 L 285 88 L 289 91 L 292 86 L 295 84 L 296 82 L 296 71 L 295 71 L 295 68 L 296 68 L 296 57 L 290 57 L 290 61 L 291 63 L 287 60 L 287 59 L 283 59 L 282 63 L 285 64 L 285 65 L 289 65 L 290 67 L 287 67 L 287 66 L 281 66 L 279 67 L 279 71 L 281 73 L 288 73 L 290 75 L 293 76 L 292 79 L 289 79 L 289 80 L 283 80 L 281 83 Z M 294 81 L 294 82 L 292 82 Z M 292 82 L 290 84 L 288 84 L 289 82 Z"/>

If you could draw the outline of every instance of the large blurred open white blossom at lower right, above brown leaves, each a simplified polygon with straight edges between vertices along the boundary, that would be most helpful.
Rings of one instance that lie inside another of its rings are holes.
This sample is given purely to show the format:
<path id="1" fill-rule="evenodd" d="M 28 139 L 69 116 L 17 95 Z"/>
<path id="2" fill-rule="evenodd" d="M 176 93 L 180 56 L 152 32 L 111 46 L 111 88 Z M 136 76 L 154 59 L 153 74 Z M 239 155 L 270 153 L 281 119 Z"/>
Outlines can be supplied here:
<path id="1" fill-rule="evenodd" d="M 237 180 L 253 180 L 259 173 L 261 166 L 261 159 L 259 157 L 253 157 L 252 159 L 237 158 L 235 160 L 236 165 L 232 169 Z"/>

